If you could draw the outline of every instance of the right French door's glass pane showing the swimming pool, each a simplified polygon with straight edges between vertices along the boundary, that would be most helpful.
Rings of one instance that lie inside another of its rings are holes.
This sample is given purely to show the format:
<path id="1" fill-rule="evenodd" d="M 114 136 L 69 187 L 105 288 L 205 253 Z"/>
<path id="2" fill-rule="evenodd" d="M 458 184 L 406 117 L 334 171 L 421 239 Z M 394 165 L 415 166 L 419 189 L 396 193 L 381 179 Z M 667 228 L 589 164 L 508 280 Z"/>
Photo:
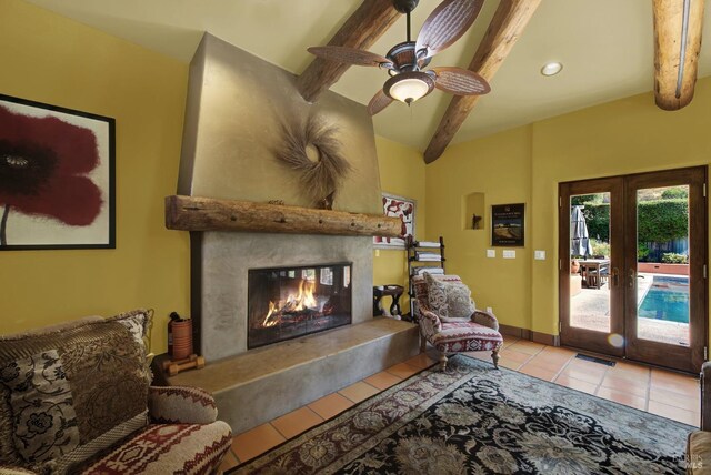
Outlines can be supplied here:
<path id="1" fill-rule="evenodd" d="M 637 192 L 637 336 L 689 346 L 689 186 Z"/>

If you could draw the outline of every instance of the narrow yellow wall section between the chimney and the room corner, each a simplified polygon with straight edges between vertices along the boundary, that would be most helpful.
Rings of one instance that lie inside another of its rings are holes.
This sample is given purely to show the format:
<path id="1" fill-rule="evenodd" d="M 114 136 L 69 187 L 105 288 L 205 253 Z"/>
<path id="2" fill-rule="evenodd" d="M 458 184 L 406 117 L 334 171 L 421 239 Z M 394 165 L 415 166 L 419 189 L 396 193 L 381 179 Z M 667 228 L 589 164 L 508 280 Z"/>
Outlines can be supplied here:
<path id="1" fill-rule="evenodd" d="M 418 240 L 434 239 L 425 235 L 424 162 L 415 149 L 381 137 L 375 137 L 380 185 L 383 192 L 417 200 L 414 233 Z M 408 285 L 408 262 L 403 250 L 373 251 L 373 285 Z M 407 295 L 400 300 L 402 312 L 410 311 Z M 390 305 L 390 297 L 384 301 Z"/>

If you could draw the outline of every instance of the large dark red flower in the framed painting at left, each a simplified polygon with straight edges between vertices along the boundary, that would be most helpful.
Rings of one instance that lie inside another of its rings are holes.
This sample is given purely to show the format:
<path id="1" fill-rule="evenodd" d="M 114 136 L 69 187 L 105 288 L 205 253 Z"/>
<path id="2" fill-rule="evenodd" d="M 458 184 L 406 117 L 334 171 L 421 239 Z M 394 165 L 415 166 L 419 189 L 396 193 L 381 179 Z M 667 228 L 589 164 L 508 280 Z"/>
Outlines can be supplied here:
<path id="1" fill-rule="evenodd" d="M 86 176 L 99 164 L 94 133 L 56 117 L 33 118 L 0 107 L 0 226 L 8 213 L 53 218 L 72 226 L 91 224 L 103 203 Z"/>

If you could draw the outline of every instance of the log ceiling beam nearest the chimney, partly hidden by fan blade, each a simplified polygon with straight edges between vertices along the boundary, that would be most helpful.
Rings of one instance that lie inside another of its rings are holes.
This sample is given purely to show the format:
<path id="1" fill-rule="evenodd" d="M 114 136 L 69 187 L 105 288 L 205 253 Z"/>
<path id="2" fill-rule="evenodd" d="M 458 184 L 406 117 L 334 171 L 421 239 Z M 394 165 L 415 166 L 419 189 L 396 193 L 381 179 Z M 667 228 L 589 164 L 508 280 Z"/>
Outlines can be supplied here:
<path id="1" fill-rule="evenodd" d="M 400 16 L 401 13 L 392 7 L 392 0 L 363 0 L 328 44 L 368 49 Z M 303 99 L 316 102 L 341 79 L 348 68 L 349 64 L 316 58 L 297 78 L 297 88 Z"/>

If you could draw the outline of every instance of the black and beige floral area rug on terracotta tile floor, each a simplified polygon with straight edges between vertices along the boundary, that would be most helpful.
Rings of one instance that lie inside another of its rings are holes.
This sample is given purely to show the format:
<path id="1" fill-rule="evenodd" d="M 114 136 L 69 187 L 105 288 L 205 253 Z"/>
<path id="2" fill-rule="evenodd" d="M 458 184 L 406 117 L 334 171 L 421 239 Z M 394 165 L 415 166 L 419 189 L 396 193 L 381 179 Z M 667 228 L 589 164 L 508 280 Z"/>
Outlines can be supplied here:
<path id="1" fill-rule="evenodd" d="M 236 474 L 682 474 L 693 427 L 458 355 Z"/>

